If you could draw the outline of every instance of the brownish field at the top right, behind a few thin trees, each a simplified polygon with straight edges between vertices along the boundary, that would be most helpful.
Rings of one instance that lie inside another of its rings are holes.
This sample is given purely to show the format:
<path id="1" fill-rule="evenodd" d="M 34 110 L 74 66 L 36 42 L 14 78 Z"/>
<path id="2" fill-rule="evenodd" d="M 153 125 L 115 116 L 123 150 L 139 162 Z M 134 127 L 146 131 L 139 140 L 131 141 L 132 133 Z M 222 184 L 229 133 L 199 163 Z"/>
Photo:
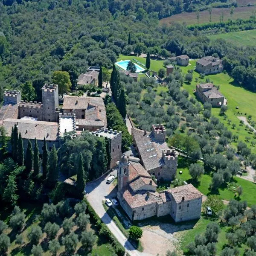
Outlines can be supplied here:
<path id="1" fill-rule="evenodd" d="M 236 19 L 249 19 L 252 15 L 255 6 L 242 6 L 237 7 L 234 10 L 233 20 Z M 230 8 L 213 8 L 212 9 L 212 22 L 219 22 L 221 13 L 224 13 L 224 21 L 230 19 Z M 209 12 L 203 11 L 199 13 L 199 23 L 208 23 L 209 22 Z M 172 22 L 185 22 L 187 25 L 197 24 L 198 20 L 196 17 L 196 12 L 183 12 L 180 14 L 172 15 L 170 17 L 163 18 L 160 20 L 161 24 L 170 25 Z"/>

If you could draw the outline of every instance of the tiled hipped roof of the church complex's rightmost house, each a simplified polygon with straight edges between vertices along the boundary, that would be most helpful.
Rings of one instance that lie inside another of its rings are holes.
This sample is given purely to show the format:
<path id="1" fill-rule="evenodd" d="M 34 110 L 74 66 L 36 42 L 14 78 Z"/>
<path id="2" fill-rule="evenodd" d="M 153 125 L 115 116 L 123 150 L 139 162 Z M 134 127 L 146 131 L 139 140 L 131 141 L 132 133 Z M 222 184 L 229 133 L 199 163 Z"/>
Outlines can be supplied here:
<path id="1" fill-rule="evenodd" d="M 192 184 L 187 184 L 183 186 L 178 186 L 173 189 L 168 189 L 167 192 L 169 192 L 172 195 L 176 203 L 201 198 L 204 195 Z M 184 200 L 182 200 L 183 198 Z"/>

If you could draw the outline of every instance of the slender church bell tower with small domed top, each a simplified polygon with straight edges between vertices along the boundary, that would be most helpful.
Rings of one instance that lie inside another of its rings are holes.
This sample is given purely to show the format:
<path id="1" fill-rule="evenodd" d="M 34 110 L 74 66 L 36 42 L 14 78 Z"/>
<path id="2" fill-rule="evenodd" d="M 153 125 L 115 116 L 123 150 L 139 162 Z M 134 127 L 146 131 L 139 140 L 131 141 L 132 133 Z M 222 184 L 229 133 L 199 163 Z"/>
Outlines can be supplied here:
<path id="1" fill-rule="evenodd" d="M 119 160 L 118 172 L 117 172 L 117 185 L 118 191 L 122 190 L 127 186 L 129 182 L 129 166 L 128 157 L 122 154 Z"/>

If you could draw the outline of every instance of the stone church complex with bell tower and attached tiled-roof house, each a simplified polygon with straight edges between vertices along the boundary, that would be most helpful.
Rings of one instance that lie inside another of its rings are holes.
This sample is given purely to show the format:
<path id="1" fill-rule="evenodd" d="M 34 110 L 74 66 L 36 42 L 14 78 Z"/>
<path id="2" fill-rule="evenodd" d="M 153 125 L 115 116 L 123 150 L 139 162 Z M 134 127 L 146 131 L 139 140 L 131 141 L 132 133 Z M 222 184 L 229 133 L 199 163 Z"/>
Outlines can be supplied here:
<path id="1" fill-rule="evenodd" d="M 117 198 L 128 217 L 142 220 L 171 215 L 175 222 L 199 219 L 203 194 L 192 184 L 156 192 L 157 185 L 140 163 L 125 154 L 117 172 Z"/>

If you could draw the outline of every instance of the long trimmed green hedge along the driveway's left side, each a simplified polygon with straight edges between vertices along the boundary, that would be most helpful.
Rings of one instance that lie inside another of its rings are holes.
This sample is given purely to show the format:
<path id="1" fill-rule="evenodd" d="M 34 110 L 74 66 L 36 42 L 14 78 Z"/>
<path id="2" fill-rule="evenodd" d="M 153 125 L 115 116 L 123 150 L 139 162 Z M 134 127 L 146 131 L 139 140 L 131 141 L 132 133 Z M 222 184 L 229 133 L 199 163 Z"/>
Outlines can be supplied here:
<path id="1" fill-rule="evenodd" d="M 99 230 L 100 235 L 104 235 L 106 239 L 112 244 L 115 253 L 118 256 L 123 256 L 125 254 L 125 248 L 119 241 L 112 235 L 111 231 L 108 229 L 107 225 L 102 222 L 99 215 L 94 211 L 93 207 L 91 207 L 90 203 L 84 198 L 85 203 L 87 204 L 87 213 L 90 215 L 91 220 L 96 224 L 96 227 Z"/>

